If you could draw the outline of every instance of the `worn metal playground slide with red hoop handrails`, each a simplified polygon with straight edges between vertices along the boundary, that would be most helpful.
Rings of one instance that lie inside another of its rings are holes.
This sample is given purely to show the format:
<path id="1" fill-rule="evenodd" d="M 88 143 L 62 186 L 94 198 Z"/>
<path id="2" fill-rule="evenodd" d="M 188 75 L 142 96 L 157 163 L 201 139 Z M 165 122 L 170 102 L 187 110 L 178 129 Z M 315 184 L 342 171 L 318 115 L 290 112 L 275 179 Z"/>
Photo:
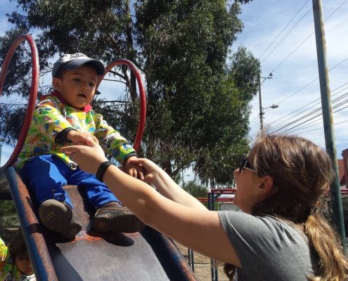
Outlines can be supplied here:
<path id="1" fill-rule="evenodd" d="M 22 41 L 30 44 L 32 88 L 18 143 L 8 162 L 0 167 L 0 171 L 4 172 L 10 186 L 37 280 L 197 280 L 174 242 L 153 228 L 147 226 L 141 230 L 141 233 L 131 234 L 98 233 L 93 230 L 89 222 L 93 211 L 85 202 L 82 190 L 74 185 L 66 185 L 65 190 L 83 225 L 82 231 L 75 237 L 75 240 L 65 240 L 57 233 L 41 226 L 37 216 L 37 206 L 12 166 L 27 136 L 37 99 L 39 60 L 36 44 L 28 34 L 18 37 L 6 54 L 0 72 L 0 96 L 8 65 L 15 49 Z M 140 72 L 129 60 L 115 60 L 106 67 L 105 73 L 115 65 L 127 65 L 134 72 L 138 83 L 141 108 L 134 141 L 134 148 L 138 150 L 146 115 L 146 94 L 143 81 Z"/>

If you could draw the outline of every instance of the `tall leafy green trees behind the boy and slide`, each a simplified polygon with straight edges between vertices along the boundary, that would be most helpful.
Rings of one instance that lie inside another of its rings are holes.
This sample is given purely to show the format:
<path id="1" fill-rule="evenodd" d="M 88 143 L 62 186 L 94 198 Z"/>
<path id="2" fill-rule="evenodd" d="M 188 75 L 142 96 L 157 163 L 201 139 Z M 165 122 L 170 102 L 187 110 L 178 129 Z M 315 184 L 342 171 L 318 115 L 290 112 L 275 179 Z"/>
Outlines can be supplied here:
<path id="1" fill-rule="evenodd" d="M 15 35 L 32 30 L 39 31 L 35 40 L 43 72 L 50 70 L 47 60 L 57 53 L 79 51 L 105 63 L 128 58 L 145 74 L 148 93 L 140 154 L 172 177 L 193 165 L 202 183 L 229 183 L 240 155 L 248 150 L 248 104 L 257 91 L 254 78 L 259 69 L 245 48 L 239 48 L 226 63 L 228 50 L 243 27 L 238 18 L 240 5 L 221 0 L 138 0 L 131 15 L 131 3 L 18 0 L 26 14 L 8 15 L 15 29 L 0 38 L 1 58 Z M 30 62 L 22 53 L 15 59 L 23 67 L 13 63 L 9 77 L 28 73 L 25 65 Z M 134 139 L 135 80 L 124 67 L 114 74 L 124 77 L 129 103 L 122 103 L 118 110 L 102 103 L 96 107 L 108 115 L 108 121 L 117 120 L 117 124 L 110 123 L 124 136 Z M 11 78 L 4 91 L 9 94 L 18 89 L 26 96 L 22 87 L 27 84 Z M 0 128 L 5 132 L 4 125 Z"/>

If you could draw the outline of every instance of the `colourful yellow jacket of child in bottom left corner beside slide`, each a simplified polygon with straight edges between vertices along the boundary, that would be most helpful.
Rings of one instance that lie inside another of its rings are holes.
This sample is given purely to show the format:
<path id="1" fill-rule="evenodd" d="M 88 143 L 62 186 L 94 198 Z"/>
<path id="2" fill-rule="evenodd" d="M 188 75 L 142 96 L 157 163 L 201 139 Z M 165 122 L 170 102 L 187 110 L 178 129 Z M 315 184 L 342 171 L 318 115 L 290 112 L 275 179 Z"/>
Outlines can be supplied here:
<path id="1" fill-rule="evenodd" d="M 15 266 L 5 242 L 0 238 L 0 281 L 35 281 L 35 275 L 22 275 Z"/>

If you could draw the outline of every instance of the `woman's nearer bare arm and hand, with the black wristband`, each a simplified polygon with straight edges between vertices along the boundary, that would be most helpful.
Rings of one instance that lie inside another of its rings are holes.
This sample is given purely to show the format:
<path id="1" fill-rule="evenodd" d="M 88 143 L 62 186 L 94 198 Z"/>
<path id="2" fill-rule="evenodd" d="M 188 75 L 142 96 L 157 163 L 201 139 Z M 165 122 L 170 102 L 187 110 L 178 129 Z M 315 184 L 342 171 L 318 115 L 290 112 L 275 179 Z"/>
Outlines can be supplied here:
<path id="1" fill-rule="evenodd" d="M 95 174 L 100 164 L 107 159 L 99 145 L 92 141 L 89 145 L 91 147 L 76 145 L 62 150 L 81 169 Z M 173 202 L 116 166 L 108 166 L 103 181 L 144 223 L 205 256 L 240 267 L 236 251 L 216 211 L 193 209 Z"/>

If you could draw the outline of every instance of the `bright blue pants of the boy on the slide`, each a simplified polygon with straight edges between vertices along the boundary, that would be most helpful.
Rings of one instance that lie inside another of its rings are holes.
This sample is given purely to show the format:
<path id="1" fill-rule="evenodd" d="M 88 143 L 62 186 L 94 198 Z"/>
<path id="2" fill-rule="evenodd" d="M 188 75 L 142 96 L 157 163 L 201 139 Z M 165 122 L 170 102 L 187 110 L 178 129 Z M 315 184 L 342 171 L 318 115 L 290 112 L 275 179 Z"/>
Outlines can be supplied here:
<path id="1" fill-rule="evenodd" d="M 95 209 L 108 202 L 120 202 L 104 183 L 96 179 L 96 176 L 79 168 L 70 169 L 55 155 L 32 157 L 25 162 L 20 173 L 28 188 L 35 192 L 39 204 L 49 199 L 56 199 L 60 202 L 65 201 L 72 207 L 72 202 L 63 189 L 67 184 L 84 188 L 89 202 Z"/>

